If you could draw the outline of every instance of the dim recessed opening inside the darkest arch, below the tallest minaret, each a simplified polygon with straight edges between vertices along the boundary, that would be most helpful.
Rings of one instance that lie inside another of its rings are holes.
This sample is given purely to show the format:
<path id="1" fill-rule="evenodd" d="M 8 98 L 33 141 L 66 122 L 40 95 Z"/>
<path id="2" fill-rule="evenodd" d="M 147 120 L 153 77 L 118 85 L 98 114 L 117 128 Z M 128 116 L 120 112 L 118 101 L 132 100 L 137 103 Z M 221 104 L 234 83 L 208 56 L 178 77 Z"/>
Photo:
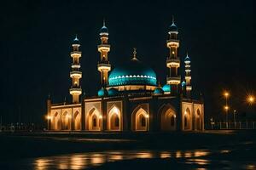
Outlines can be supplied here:
<path id="1" fill-rule="evenodd" d="M 160 127 L 163 131 L 176 130 L 176 113 L 171 108 L 162 111 L 160 116 Z"/>

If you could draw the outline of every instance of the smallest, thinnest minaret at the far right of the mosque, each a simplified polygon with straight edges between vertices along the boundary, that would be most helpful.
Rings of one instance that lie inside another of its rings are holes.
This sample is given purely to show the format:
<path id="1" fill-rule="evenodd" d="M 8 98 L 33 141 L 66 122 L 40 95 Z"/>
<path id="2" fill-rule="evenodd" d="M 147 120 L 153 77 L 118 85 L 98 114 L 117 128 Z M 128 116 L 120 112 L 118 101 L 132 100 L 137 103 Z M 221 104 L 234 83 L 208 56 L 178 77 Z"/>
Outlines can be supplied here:
<path id="1" fill-rule="evenodd" d="M 191 69 L 190 69 L 190 58 L 187 54 L 186 58 L 184 59 L 185 63 L 185 80 L 186 80 L 186 94 L 187 98 L 191 98 Z"/>

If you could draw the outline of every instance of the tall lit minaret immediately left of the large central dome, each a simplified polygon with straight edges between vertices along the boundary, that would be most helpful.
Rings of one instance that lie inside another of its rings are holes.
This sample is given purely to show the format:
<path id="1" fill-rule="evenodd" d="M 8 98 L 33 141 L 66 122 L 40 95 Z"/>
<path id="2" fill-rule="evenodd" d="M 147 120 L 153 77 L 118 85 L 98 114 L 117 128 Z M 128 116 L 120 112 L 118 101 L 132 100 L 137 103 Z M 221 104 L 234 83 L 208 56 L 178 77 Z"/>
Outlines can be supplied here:
<path id="1" fill-rule="evenodd" d="M 101 72 L 101 85 L 102 87 L 108 86 L 108 71 L 111 71 L 111 65 L 108 61 L 108 52 L 110 45 L 108 44 L 108 28 L 105 26 L 105 20 L 100 32 L 102 43 L 98 45 L 98 51 L 101 53 L 101 60 L 98 63 L 98 71 Z"/>

